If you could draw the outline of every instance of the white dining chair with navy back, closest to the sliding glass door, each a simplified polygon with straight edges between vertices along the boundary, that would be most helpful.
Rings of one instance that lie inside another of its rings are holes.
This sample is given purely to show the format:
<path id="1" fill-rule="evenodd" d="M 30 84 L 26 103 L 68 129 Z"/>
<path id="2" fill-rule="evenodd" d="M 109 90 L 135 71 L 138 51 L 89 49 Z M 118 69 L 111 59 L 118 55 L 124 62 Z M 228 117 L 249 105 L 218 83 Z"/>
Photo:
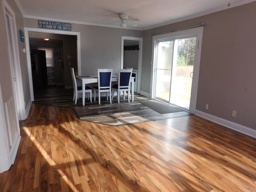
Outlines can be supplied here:
<path id="1" fill-rule="evenodd" d="M 118 72 L 118 84 L 112 86 L 112 100 L 114 98 L 114 92 L 117 91 L 117 100 L 120 103 L 120 92 L 128 91 L 128 102 L 130 102 L 130 83 L 132 77 L 132 68 L 130 69 L 119 69 Z"/>

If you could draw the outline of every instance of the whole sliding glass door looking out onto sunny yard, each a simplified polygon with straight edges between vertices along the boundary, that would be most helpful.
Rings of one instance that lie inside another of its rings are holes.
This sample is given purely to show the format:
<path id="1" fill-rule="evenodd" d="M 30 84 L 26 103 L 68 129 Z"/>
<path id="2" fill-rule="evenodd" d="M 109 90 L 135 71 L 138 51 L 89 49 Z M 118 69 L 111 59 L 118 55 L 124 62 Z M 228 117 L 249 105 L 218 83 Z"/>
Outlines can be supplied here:
<path id="1" fill-rule="evenodd" d="M 190 112 L 195 110 L 197 90 L 193 91 L 192 88 L 197 89 L 199 71 L 197 38 L 197 34 L 155 38 L 153 98 Z M 193 80 L 195 73 L 196 78 Z"/>

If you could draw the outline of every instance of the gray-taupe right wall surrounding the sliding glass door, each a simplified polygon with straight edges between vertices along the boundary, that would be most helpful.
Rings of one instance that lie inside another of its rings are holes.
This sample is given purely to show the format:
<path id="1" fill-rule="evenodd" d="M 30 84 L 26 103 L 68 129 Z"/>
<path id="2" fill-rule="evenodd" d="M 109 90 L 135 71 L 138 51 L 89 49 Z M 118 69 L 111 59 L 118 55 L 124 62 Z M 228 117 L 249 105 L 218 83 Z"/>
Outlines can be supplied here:
<path id="1" fill-rule="evenodd" d="M 196 110 L 256 129 L 256 2 L 145 30 L 142 91 L 150 92 L 152 36 L 205 22 Z M 205 109 L 205 104 L 209 109 Z M 236 110 L 236 117 L 232 117 Z"/>

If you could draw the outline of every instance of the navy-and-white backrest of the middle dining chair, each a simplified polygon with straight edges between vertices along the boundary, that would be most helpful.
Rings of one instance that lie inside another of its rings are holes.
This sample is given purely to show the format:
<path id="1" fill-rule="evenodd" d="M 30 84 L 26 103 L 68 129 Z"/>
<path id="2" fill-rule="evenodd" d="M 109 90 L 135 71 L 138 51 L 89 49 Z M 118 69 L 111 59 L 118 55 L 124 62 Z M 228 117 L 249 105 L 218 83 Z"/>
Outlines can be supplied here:
<path id="1" fill-rule="evenodd" d="M 111 88 L 113 69 L 98 69 L 98 87 Z"/>

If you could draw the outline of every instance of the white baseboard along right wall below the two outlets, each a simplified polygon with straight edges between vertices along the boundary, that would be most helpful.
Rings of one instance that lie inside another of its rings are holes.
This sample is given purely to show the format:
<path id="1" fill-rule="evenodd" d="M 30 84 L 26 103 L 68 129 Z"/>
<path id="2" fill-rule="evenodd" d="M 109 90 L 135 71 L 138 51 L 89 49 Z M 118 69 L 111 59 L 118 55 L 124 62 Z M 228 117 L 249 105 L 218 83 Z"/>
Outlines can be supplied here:
<path id="1" fill-rule="evenodd" d="M 227 128 L 230 128 L 232 130 L 238 131 L 240 133 L 246 134 L 248 136 L 251 136 L 253 138 L 256 138 L 256 130 L 252 129 L 252 128 L 248 128 L 246 126 L 242 126 L 240 124 L 210 115 L 208 113 L 196 110 L 195 111 L 195 115 L 200 116 L 202 118 L 205 118 L 207 120 L 210 120 L 212 122 L 218 123 L 220 125 L 223 125 Z"/>

